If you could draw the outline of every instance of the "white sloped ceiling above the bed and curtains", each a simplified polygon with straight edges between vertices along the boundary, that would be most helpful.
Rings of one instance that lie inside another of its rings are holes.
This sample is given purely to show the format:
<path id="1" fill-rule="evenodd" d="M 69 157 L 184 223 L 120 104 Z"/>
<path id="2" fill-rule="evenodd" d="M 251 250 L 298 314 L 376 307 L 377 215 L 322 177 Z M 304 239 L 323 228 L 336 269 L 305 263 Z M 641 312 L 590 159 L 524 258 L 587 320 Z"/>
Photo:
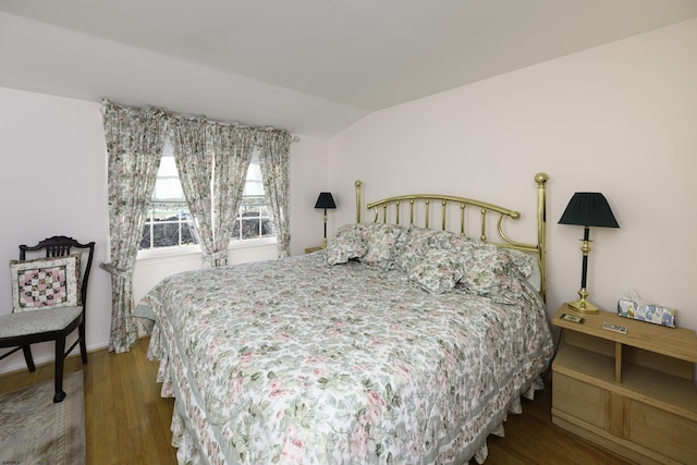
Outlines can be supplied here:
<path id="1" fill-rule="evenodd" d="M 331 137 L 692 17 L 696 0 L 0 0 L 0 86 Z"/>

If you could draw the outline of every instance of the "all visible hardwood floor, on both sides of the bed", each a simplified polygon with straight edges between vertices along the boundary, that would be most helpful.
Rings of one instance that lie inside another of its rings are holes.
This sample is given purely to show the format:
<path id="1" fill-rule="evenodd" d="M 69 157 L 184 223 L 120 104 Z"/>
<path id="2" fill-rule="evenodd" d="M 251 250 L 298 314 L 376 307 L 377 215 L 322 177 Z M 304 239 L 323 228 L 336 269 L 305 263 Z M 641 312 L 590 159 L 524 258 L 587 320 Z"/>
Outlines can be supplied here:
<path id="1" fill-rule="evenodd" d="M 78 356 L 65 360 L 65 372 L 85 375 L 85 435 L 87 463 L 176 464 L 170 445 L 173 400 L 160 397 L 156 382 L 158 364 L 146 358 L 148 340 L 129 353 L 106 350 L 89 354 L 87 365 Z M 53 379 L 53 365 L 0 376 L 0 392 Z M 509 415 L 505 438 L 489 438 L 486 465 L 560 464 L 627 465 L 629 462 L 590 444 L 551 421 L 549 387 L 534 402 L 523 401 L 522 415 Z M 470 461 L 474 465 L 475 461 Z"/>

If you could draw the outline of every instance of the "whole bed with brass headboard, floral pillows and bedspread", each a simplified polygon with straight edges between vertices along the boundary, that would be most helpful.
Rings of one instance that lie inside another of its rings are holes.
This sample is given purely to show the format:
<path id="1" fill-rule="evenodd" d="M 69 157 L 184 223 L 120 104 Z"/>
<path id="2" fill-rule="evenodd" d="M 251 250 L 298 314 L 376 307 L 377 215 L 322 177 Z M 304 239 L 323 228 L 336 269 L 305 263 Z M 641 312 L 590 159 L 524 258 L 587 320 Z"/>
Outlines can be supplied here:
<path id="1" fill-rule="evenodd" d="M 356 182 L 356 223 L 326 249 L 156 285 L 135 315 L 180 463 L 482 463 L 553 354 L 535 181 L 536 244 L 464 197 L 390 197 L 364 221 Z"/>

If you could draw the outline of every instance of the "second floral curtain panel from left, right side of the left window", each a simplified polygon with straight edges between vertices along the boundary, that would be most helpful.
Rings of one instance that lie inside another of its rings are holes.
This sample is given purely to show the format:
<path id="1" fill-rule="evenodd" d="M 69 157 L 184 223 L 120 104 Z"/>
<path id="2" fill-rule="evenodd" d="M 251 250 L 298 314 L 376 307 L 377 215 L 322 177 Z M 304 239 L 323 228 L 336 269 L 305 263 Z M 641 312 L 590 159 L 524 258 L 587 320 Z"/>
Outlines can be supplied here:
<path id="1" fill-rule="evenodd" d="M 179 179 L 196 223 L 204 264 L 209 264 L 209 257 L 216 254 L 210 187 L 213 155 L 207 134 L 210 124 L 205 120 L 179 119 L 172 125 L 172 145 Z"/>

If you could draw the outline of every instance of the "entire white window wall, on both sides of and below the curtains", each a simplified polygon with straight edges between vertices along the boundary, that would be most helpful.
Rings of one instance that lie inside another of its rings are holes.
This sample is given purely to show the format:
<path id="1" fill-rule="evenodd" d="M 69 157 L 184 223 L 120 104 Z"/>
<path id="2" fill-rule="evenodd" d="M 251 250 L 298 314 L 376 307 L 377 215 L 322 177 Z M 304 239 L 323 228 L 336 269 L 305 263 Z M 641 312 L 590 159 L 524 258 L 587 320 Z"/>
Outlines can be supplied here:
<path id="1" fill-rule="evenodd" d="M 19 258 L 20 244 L 64 234 L 96 242 L 89 280 L 87 346 L 109 343 L 111 282 L 98 265 L 107 260 L 107 155 L 100 103 L 0 87 L 0 260 Z M 301 136 L 291 146 L 291 253 L 321 242 L 321 215 L 314 210 L 317 194 L 327 188 L 327 140 Z M 253 249 L 254 250 L 254 249 Z M 256 253 L 260 255 L 254 255 Z M 233 260 L 271 258 L 257 249 Z M 189 257 L 191 258 L 191 257 Z M 194 264 L 194 265 L 192 265 Z M 144 294 L 158 273 L 200 266 L 193 261 L 138 265 L 135 286 Z M 150 268 L 148 268 L 150 267 Z M 154 271 L 155 270 L 155 271 Z M 0 314 L 11 311 L 9 266 L 0 267 Z M 37 363 L 53 358 L 52 343 L 33 346 Z M 24 369 L 21 352 L 0 364 L 0 372 Z"/>

